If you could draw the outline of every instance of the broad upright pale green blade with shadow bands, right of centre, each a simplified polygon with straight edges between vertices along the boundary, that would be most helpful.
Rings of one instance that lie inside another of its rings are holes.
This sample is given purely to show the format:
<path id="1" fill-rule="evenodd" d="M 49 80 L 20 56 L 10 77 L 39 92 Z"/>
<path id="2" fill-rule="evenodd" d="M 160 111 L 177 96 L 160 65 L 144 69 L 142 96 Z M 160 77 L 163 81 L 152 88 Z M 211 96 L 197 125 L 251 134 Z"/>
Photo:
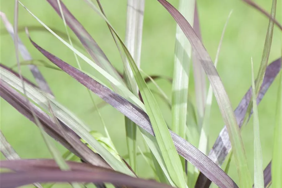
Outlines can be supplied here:
<path id="1" fill-rule="evenodd" d="M 179 11 L 193 25 L 195 0 L 180 0 Z M 172 125 L 171 130 L 186 138 L 187 96 L 192 47 L 181 28 L 176 25 L 174 71 L 172 80 Z M 180 157 L 183 170 L 185 160 Z"/>

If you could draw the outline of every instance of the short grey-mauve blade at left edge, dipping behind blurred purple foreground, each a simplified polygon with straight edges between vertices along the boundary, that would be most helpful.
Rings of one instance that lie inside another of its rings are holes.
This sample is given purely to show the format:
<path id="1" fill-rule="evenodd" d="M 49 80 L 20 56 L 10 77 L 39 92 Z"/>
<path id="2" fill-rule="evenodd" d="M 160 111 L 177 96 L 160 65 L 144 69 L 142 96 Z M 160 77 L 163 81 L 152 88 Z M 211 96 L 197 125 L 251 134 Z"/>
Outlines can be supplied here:
<path id="1" fill-rule="evenodd" d="M 0 151 L 5 156 L 7 160 L 18 160 L 20 156 L 11 146 L 11 144 L 6 140 L 4 134 L 0 130 Z M 42 188 L 40 183 L 33 183 L 33 185 L 37 188 Z"/>

